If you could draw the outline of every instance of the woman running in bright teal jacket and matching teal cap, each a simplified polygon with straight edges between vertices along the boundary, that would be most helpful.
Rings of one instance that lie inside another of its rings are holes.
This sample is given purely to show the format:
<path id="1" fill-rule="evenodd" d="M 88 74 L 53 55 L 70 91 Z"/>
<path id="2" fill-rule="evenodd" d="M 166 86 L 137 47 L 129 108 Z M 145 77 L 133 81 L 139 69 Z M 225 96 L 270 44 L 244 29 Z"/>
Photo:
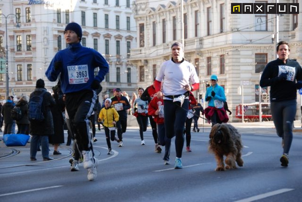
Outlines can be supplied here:
<path id="1" fill-rule="evenodd" d="M 226 101 L 224 89 L 217 84 L 217 75 L 211 75 L 211 86 L 207 88 L 205 95 L 208 107 L 205 109 L 205 116 L 211 120 L 212 126 L 216 123 L 226 123 L 229 118 L 223 108 L 223 102 Z"/>

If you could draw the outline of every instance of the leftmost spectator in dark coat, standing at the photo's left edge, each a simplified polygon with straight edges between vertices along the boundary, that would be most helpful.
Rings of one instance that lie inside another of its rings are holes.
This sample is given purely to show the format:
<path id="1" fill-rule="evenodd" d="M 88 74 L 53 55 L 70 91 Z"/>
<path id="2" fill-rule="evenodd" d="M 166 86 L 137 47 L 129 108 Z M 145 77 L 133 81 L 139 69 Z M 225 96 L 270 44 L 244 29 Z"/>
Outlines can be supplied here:
<path id="1" fill-rule="evenodd" d="M 11 118 L 11 109 L 14 108 L 13 102 L 11 101 L 11 97 L 7 98 L 7 101 L 3 104 L 1 114 L 4 119 L 4 131 L 3 135 L 11 134 L 11 128 L 13 125 L 13 119 Z"/>

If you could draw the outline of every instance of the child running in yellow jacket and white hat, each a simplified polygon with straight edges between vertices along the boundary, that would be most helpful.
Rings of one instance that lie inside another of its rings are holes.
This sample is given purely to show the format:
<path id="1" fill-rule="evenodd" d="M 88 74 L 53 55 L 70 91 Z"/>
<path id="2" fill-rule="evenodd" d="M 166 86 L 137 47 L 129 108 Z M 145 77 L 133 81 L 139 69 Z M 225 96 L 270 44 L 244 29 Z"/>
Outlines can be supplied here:
<path id="1" fill-rule="evenodd" d="M 110 155 L 112 154 L 110 139 L 111 141 L 116 140 L 117 142 L 119 142 L 119 140 L 115 136 L 115 123 L 118 121 L 120 116 L 118 115 L 116 109 L 114 107 L 111 107 L 111 99 L 107 98 L 104 104 L 105 107 L 101 109 L 100 114 L 98 115 L 98 121 L 103 121 L 106 142 L 108 146 L 107 154 Z"/>

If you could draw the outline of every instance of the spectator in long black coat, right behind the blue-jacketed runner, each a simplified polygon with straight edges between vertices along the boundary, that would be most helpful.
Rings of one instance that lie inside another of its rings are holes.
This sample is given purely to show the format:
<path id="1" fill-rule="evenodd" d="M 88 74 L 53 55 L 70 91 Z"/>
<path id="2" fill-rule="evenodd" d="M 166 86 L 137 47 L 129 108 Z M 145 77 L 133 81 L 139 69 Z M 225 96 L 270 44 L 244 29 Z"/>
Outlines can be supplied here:
<path id="1" fill-rule="evenodd" d="M 65 103 L 63 101 L 63 92 L 61 91 L 61 83 L 58 82 L 53 88 L 53 98 L 56 104 L 51 107 L 53 115 L 54 135 L 49 136 L 49 143 L 53 144 L 53 155 L 60 155 L 58 150 L 59 144 L 64 143 L 64 117 Z"/>

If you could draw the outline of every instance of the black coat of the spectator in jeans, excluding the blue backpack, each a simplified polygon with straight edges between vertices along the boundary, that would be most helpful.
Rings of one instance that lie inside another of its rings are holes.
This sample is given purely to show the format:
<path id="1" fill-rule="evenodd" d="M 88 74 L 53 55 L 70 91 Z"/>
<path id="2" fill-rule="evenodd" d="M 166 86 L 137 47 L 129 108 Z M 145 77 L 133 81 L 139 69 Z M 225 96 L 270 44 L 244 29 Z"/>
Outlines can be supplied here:
<path id="1" fill-rule="evenodd" d="M 46 91 L 45 88 L 36 88 L 31 93 L 30 98 L 34 95 L 40 95 L 42 91 Z M 41 122 L 31 121 L 31 134 L 32 135 L 53 135 L 53 116 L 50 108 L 55 105 L 56 102 L 49 92 L 43 95 L 43 107 L 45 119 Z"/>

